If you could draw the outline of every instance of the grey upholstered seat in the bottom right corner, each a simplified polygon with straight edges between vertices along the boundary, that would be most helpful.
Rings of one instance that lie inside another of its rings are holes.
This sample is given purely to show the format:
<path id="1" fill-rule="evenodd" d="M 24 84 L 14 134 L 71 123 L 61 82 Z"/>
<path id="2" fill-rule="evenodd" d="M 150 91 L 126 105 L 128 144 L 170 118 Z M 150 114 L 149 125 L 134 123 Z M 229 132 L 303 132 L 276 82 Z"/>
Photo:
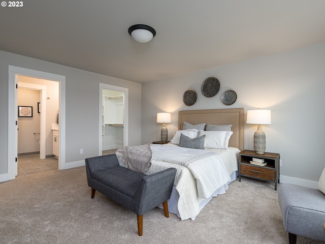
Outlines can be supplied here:
<path id="1" fill-rule="evenodd" d="M 281 184 L 279 204 L 289 243 L 296 243 L 297 235 L 325 241 L 325 195 L 318 189 Z"/>

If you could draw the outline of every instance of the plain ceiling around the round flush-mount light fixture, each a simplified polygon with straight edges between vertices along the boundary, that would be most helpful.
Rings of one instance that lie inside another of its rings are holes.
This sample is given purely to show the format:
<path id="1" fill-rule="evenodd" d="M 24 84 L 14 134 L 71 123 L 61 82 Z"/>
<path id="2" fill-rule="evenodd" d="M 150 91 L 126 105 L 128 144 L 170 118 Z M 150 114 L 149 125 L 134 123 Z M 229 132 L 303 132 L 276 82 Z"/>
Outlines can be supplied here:
<path id="1" fill-rule="evenodd" d="M 157 34 L 137 43 L 127 32 L 134 24 Z M 0 50 L 136 82 L 321 42 L 324 0 L 23 0 L 23 7 L 0 7 Z"/>

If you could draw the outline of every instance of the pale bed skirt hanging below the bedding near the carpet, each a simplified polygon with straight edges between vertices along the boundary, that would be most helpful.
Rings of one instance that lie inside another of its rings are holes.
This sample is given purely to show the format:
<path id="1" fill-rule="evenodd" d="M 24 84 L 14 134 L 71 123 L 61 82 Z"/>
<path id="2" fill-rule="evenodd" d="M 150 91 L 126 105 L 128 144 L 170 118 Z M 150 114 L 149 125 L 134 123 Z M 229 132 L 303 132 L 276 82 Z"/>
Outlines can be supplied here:
<path id="1" fill-rule="evenodd" d="M 227 184 L 220 187 L 209 198 L 206 198 L 204 201 L 202 201 L 200 203 L 200 211 L 202 210 L 202 208 L 204 208 L 205 205 L 207 205 L 211 201 L 211 199 L 213 197 L 216 197 L 218 194 L 224 194 L 225 191 L 228 190 L 229 184 L 231 182 L 233 182 L 234 180 L 236 180 L 237 176 L 238 176 L 238 171 L 234 171 L 230 175 L 231 180 Z M 175 186 L 173 186 L 171 198 L 168 200 L 168 211 L 173 214 L 176 214 L 179 218 L 181 218 L 179 215 L 179 211 L 178 211 L 178 199 L 179 199 L 179 194 L 178 194 Z M 160 204 L 158 207 L 163 208 L 163 204 Z M 189 219 L 194 220 L 196 217 L 197 216 L 192 216 Z"/>

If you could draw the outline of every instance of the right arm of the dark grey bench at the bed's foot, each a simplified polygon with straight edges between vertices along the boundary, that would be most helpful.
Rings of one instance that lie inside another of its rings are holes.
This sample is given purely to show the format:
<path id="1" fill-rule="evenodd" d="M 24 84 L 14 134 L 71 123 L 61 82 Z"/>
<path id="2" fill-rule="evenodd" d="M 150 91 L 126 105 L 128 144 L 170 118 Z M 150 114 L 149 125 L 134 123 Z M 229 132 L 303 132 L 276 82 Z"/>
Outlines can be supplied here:
<path id="1" fill-rule="evenodd" d="M 134 197 L 137 215 L 143 215 L 170 198 L 175 175 L 176 169 L 169 168 L 142 178 Z"/>

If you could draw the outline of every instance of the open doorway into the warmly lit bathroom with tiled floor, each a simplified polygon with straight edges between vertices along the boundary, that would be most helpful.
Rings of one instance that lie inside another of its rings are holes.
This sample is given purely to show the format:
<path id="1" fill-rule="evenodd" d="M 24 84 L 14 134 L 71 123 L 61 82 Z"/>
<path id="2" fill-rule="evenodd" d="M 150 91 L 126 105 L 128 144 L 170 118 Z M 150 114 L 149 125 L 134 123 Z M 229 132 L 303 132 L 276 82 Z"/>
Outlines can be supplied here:
<path id="1" fill-rule="evenodd" d="M 29 106 L 32 113 L 29 117 L 18 116 L 16 176 L 58 169 L 51 129 L 52 125 L 57 127 L 59 83 L 19 75 L 18 106 L 21 105 Z M 41 112 L 43 106 L 45 112 Z"/>

